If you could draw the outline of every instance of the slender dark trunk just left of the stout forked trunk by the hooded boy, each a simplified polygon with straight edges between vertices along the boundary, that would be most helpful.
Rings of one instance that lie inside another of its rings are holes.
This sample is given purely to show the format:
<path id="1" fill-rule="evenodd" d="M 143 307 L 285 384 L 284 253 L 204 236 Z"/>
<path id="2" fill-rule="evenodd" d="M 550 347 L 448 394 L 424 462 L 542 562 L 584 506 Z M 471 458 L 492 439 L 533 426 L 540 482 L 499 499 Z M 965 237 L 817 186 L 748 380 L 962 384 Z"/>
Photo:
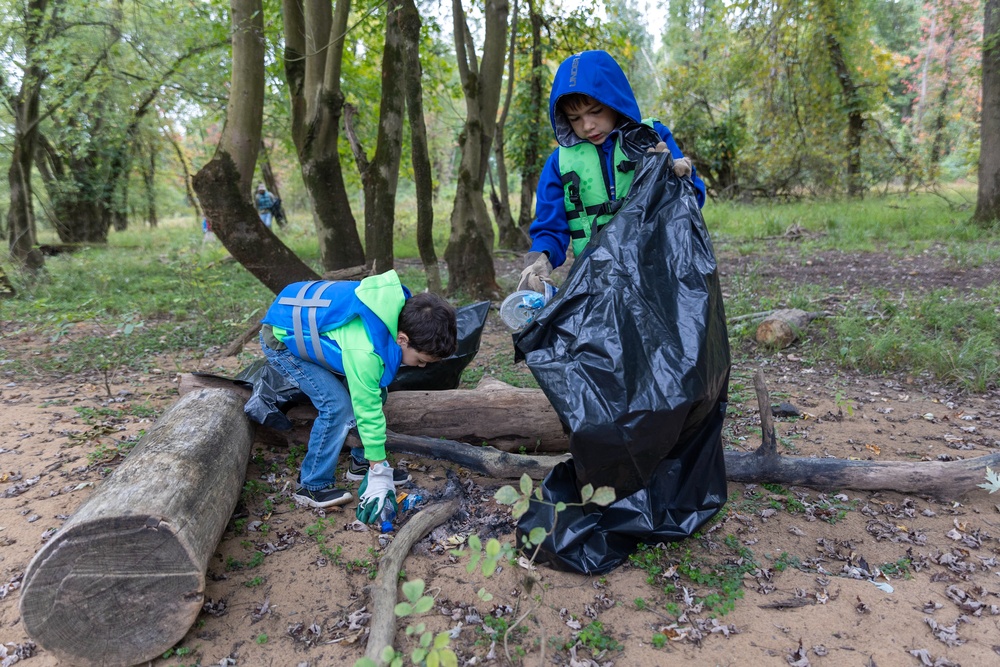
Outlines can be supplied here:
<path id="1" fill-rule="evenodd" d="M 414 0 L 403 0 L 400 9 L 403 48 L 403 76 L 406 86 L 406 113 L 410 121 L 413 180 L 417 191 L 417 250 L 427 274 L 427 289 L 443 293 L 441 271 L 434 250 L 434 179 L 427 126 L 424 122 L 423 68 L 420 66 L 420 12 Z"/>

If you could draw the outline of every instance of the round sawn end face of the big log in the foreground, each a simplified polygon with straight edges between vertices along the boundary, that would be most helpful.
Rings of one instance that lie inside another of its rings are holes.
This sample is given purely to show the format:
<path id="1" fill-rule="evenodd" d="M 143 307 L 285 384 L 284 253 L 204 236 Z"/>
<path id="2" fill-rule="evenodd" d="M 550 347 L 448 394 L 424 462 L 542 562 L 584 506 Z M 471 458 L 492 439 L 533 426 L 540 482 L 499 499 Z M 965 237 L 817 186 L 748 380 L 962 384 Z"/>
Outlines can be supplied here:
<path id="1" fill-rule="evenodd" d="M 201 611 L 200 560 L 159 517 L 71 526 L 28 565 L 21 618 L 32 639 L 71 664 L 146 662 L 180 641 Z"/>

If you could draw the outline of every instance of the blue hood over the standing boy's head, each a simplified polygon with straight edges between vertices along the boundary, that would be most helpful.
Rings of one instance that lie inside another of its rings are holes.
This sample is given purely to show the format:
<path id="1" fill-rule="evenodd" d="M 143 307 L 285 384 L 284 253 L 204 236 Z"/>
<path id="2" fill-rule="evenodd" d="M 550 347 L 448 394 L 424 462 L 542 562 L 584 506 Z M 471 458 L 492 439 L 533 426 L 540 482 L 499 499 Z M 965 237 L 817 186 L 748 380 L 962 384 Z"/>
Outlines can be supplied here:
<path id="1" fill-rule="evenodd" d="M 576 136 L 566 114 L 556 107 L 560 97 L 577 93 L 589 95 L 634 123 L 642 121 L 632 86 L 611 54 L 607 51 L 582 51 L 564 60 L 552 81 L 549 119 L 560 146 L 573 146 L 586 141 Z"/>

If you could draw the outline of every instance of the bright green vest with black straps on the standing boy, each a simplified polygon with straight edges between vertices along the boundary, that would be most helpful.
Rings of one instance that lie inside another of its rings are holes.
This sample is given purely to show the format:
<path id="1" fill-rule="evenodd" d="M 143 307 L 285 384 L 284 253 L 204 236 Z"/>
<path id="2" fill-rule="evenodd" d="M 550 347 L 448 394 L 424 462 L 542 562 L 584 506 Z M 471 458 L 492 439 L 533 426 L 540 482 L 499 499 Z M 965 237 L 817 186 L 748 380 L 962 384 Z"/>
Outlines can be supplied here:
<path id="1" fill-rule="evenodd" d="M 653 126 L 652 118 L 642 122 Z M 602 153 L 599 146 L 581 141 L 574 146 L 559 147 L 559 174 L 562 176 L 566 221 L 573 254 L 579 255 L 587 247 L 590 237 L 606 225 L 621 208 L 632 187 L 635 160 L 629 160 L 618 139 L 614 148 L 614 192 L 609 198 L 601 169 Z"/>

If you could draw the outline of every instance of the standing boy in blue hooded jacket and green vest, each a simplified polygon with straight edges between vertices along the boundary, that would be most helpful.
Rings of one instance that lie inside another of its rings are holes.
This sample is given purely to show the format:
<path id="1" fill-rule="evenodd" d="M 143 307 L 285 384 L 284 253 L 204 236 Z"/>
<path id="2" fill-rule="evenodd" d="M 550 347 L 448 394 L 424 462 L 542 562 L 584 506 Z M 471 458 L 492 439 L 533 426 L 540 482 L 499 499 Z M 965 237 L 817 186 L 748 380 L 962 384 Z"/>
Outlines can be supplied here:
<path id="1" fill-rule="evenodd" d="M 583 51 L 559 65 L 549 94 L 549 118 L 559 147 L 538 180 L 531 250 L 517 289 L 544 291 L 554 268 L 566 261 L 570 245 L 579 255 L 617 210 L 629 192 L 635 164 L 625 159 L 619 129 L 626 123 L 652 126 L 669 150 L 674 173 L 690 176 L 698 206 L 705 204 L 705 184 L 684 157 L 670 130 L 654 119 L 643 120 L 632 86 L 606 51 Z M 596 224 L 595 224 L 596 223 Z"/>

